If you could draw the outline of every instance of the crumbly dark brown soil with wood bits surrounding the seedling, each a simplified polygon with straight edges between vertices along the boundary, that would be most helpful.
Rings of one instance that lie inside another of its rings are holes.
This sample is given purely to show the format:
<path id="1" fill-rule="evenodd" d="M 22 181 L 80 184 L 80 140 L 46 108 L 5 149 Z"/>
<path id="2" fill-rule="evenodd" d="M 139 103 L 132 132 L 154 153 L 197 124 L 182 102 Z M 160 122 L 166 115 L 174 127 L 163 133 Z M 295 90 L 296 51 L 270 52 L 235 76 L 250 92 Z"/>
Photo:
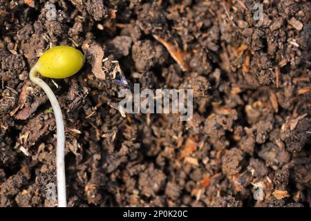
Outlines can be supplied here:
<path id="1" fill-rule="evenodd" d="M 51 46 L 86 64 L 44 79 L 66 124 L 68 206 L 310 206 L 311 2 L 0 0 L 0 206 L 56 206 L 55 119 L 30 68 Z M 141 89 L 193 88 L 194 115 L 126 114 Z M 122 76 L 121 76 L 122 77 Z M 263 199 L 254 199 L 258 186 Z"/>

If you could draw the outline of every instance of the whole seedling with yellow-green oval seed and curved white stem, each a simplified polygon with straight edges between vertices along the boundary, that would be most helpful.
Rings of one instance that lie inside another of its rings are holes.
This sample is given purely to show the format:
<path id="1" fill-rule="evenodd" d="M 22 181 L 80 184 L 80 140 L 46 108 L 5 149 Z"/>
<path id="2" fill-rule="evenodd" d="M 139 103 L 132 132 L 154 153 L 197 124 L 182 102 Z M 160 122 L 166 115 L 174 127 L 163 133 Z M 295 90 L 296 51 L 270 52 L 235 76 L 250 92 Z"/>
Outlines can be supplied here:
<path id="1" fill-rule="evenodd" d="M 30 80 L 39 85 L 48 96 L 55 115 L 57 129 L 56 173 L 58 207 L 66 207 L 64 119 L 53 90 L 39 78 L 38 74 L 44 77 L 62 79 L 75 75 L 82 68 L 83 64 L 84 55 L 82 52 L 70 46 L 56 46 L 44 52 L 29 73 Z"/>

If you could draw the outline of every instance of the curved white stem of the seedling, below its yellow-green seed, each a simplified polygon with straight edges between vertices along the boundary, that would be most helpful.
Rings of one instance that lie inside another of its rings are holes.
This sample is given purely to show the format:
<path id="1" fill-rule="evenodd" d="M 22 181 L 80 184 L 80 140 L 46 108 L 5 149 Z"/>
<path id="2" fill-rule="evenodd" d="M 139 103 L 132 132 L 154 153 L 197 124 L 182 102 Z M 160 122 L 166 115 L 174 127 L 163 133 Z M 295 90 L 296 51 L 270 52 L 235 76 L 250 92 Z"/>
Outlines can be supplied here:
<path id="1" fill-rule="evenodd" d="M 56 121 L 57 146 L 56 146 L 56 173 L 57 173 L 57 201 L 58 207 L 66 207 L 66 176 L 65 176 L 65 129 L 62 110 L 53 90 L 42 79 L 37 77 L 38 66 L 35 64 L 30 70 L 29 77 L 32 82 L 39 85 L 50 100 Z"/>

